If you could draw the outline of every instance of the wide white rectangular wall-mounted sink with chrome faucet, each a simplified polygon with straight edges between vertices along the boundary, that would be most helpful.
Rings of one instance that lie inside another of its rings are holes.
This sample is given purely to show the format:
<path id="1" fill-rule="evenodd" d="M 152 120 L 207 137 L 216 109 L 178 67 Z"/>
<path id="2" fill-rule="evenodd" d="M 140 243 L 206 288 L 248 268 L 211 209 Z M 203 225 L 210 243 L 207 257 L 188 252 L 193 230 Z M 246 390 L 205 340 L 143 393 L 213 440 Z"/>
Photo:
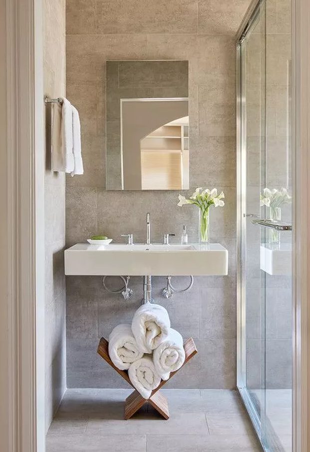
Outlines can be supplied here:
<path id="1" fill-rule="evenodd" d="M 227 275 L 228 251 L 207 245 L 77 243 L 64 252 L 66 275 Z"/>

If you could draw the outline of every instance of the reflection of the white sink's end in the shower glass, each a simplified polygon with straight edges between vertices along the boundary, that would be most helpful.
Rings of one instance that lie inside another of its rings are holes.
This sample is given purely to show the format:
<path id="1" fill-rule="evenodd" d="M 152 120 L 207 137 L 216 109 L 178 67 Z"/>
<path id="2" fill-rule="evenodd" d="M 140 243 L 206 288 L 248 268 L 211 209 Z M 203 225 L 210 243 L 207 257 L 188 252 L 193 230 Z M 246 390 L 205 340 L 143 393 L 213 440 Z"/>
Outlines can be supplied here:
<path id="1" fill-rule="evenodd" d="M 262 244 L 261 270 L 269 275 L 292 274 L 292 244 Z"/>

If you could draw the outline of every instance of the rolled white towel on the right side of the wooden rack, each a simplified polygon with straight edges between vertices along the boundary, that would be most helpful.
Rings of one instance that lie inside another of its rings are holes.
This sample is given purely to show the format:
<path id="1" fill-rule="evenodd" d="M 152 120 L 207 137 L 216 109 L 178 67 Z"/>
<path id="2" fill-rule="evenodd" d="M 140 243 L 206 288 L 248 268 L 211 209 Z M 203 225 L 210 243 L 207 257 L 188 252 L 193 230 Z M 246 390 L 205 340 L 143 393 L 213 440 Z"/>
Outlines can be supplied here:
<path id="1" fill-rule="evenodd" d="M 168 380 L 170 372 L 180 369 L 184 361 L 183 338 L 178 331 L 170 328 L 168 338 L 153 353 L 156 372 L 163 380 Z"/>

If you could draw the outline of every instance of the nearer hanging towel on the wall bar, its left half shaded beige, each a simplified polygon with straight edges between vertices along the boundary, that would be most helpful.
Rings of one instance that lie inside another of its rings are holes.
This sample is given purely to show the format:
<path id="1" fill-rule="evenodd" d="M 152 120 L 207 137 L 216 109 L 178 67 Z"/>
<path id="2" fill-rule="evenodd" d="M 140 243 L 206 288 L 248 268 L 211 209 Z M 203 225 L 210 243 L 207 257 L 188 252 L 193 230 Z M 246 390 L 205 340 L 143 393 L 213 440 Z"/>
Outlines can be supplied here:
<path id="1" fill-rule="evenodd" d="M 53 104 L 52 121 L 52 170 L 74 171 L 72 108 L 68 99 L 60 97 Z"/>

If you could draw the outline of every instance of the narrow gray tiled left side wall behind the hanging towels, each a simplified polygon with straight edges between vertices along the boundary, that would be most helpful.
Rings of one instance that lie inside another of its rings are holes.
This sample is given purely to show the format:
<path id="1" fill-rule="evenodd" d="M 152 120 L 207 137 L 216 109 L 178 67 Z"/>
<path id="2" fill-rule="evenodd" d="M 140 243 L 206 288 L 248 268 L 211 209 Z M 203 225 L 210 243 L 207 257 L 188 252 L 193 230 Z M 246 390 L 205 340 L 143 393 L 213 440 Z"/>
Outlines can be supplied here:
<path id="1" fill-rule="evenodd" d="M 65 1 L 44 2 L 44 92 L 65 95 Z M 66 389 L 65 176 L 51 171 L 51 107 L 45 109 L 45 428 Z"/>

